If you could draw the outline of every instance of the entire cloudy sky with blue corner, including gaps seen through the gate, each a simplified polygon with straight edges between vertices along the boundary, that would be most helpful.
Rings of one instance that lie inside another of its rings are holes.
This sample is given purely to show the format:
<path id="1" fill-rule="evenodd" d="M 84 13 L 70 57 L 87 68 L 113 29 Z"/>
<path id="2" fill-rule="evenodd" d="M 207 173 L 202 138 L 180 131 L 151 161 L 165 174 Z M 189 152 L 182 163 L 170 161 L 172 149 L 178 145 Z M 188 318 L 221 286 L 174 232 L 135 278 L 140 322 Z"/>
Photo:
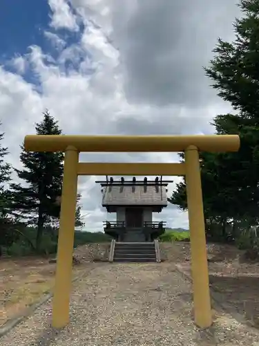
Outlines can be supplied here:
<path id="1" fill-rule="evenodd" d="M 236 0 L 2 0 L 0 119 L 8 161 L 49 109 L 64 134 L 211 134 L 231 111 L 209 86 L 218 37 L 233 39 Z M 81 154 L 81 161 L 173 162 L 176 154 Z M 87 230 L 101 230 L 96 179 L 80 177 Z M 178 178 L 173 179 L 169 195 Z M 112 219 L 110 215 L 109 219 Z M 169 206 L 157 220 L 188 227 Z"/>

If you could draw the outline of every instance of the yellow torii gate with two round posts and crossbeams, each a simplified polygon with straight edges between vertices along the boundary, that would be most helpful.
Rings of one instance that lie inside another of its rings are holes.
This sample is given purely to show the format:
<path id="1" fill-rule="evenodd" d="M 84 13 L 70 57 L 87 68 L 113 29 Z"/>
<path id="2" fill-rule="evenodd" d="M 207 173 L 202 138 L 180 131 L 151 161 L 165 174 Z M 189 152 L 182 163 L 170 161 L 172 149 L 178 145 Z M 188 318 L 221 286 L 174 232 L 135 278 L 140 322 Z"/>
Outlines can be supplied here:
<path id="1" fill-rule="evenodd" d="M 240 147 L 239 136 L 28 135 L 25 137 L 24 146 L 28 152 L 65 152 L 57 269 L 52 302 L 53 327 L 65 327 L 69 322 L 78 175 L 186 176 L 194 320 L 195 324 L 202 328 L 211 325 L 209 272 L 198 151 L 237 152 Z M 185 163 L 79 163 L 79 152 L 184 152 Z"/>

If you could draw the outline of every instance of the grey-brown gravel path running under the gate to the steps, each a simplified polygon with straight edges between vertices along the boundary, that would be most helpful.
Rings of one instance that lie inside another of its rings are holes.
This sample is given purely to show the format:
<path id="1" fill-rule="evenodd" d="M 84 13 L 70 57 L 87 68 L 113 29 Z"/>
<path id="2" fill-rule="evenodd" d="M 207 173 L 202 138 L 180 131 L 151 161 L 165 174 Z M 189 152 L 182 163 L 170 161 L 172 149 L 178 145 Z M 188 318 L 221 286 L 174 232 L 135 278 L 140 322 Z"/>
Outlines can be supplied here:
<path id="1" fill-rule="evenodd" d="M 0 339 L 3 346 L 259 345 L 259 331 L 222 311 L 207 331 L 191 320 L 191 286 L 173 264 L 88 264 L 74 284 L 71 322 L 50 328 L 51 304 Z"/>

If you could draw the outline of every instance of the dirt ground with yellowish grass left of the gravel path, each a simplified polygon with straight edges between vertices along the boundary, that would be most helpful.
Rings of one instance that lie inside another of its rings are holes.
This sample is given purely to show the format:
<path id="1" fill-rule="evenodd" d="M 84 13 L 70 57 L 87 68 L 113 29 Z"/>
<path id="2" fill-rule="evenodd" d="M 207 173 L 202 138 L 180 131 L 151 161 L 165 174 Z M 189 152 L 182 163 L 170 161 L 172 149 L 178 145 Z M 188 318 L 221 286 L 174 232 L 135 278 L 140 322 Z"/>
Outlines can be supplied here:
<path id="1" fill-rule="evenodd" d="M 75 250 L 81 264 L 74 275 L 84 270 L 84 263 L 107 258 L 109 244 L 91 244 Z M 52 291 L 56 264 L 52 257 L 17 257 L 0 260 L 0 328 L 10 319 L 23 314 L 31 304 Z"/>

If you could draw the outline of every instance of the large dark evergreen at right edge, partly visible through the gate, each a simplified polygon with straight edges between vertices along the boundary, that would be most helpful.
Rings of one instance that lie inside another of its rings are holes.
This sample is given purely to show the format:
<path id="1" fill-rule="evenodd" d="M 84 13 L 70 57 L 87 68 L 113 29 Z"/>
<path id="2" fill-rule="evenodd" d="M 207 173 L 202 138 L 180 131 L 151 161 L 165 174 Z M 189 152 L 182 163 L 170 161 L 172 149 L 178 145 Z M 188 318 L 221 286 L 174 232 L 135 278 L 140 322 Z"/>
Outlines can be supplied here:
<path id="1" fill-rule="evenodd" d="M 238 134 L 241 140 L 237 153 L 200 154 L 204 215 L 222 225 L 242 220 L 258 223 L 259 1 L 241 0 L 239 6 L 243 16 L 233 24 L 236 40 L 219 39 L 213 50 L 216 55 L 205 69 L 218 95 L 237 111 L 215 116 L 216 134 Z M 185 183 L 177 186 L 169 201 L 186 206 Z"/>

